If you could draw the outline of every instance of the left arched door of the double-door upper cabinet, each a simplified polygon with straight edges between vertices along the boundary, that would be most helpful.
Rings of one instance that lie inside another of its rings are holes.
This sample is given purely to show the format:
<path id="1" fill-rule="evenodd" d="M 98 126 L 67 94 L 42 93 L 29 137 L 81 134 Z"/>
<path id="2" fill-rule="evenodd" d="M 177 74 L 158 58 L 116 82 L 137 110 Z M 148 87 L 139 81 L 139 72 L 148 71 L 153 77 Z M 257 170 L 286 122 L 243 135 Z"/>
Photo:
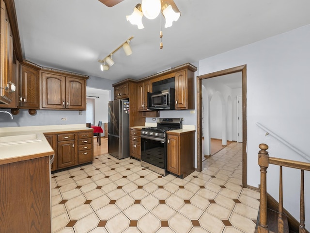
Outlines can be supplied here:
<path id="1" fill-rule="evenodd" d="M 42 73 L 42 108 L 65 108 L 65 77 Z"/>

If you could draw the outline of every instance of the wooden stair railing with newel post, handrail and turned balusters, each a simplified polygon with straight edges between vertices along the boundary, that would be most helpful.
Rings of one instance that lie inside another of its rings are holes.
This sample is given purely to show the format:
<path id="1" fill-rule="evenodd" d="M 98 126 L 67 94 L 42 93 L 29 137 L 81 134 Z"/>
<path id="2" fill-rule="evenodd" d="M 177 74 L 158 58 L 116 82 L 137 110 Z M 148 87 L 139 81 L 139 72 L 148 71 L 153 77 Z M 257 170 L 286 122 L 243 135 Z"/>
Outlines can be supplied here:
<path id="1" fill-rule="evenodd" d="M 304 192 L 304 170 L 310 171 L 310 163 L 298 162 L 288 159 L 269 157 L 268 146 L 260 144 L 258 152 L 258 165 L 261 167 L 261 186 L 260 186 L 260 220 L 258 223 L 258 233 L 269 233 L 267 225 L 267 168 L 269 164 L 279 166 L 279 216 L 278 233 L 283 233 L 283 186 L 282 186 L 282 166 L 301 170 L 300 178 L 300 222 L 299 233 L 306 233 L 305 229 L 305 192 Z"/>

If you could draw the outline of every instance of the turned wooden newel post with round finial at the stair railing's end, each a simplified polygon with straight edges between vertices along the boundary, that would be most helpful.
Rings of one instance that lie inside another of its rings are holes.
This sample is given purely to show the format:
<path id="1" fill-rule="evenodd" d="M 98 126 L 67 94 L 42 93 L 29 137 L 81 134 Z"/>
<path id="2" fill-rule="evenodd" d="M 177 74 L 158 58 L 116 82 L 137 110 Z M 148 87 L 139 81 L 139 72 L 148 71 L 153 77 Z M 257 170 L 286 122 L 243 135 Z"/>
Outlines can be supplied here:
<path id="1" fill-rule="evenodd" d="M 259 233 L 268 233 L 267 225 L 267 168 L 269 165 L 268 146 L 260 144 L 258 152 L 258 165 L 261 167 L 261 202 L 260 202 L 260 222 L 258 225 Z"/>

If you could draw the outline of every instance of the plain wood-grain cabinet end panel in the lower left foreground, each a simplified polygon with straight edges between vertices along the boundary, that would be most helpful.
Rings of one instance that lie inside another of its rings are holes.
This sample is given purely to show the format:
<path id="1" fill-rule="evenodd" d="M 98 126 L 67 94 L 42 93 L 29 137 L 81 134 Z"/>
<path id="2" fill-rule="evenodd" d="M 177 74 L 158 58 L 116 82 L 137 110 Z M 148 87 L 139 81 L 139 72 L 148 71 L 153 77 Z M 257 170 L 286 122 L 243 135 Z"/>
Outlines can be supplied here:
<path id="1" fill-rule="evenodd" d="M 0 233 L 51 233 L 49 159 L 0 165 Z"/>

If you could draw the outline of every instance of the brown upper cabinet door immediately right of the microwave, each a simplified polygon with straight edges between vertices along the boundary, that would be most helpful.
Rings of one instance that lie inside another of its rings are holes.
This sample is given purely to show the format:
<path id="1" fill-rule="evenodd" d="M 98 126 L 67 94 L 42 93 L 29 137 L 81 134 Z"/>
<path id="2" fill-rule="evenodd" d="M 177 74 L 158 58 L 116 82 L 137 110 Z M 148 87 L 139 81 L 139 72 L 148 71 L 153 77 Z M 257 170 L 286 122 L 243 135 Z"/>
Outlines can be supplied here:
<path id="1" fill-rule="evenodd" d="M 187 78 L 186 71 L 175 73 L 175 109 L 187 108 Z"/>

